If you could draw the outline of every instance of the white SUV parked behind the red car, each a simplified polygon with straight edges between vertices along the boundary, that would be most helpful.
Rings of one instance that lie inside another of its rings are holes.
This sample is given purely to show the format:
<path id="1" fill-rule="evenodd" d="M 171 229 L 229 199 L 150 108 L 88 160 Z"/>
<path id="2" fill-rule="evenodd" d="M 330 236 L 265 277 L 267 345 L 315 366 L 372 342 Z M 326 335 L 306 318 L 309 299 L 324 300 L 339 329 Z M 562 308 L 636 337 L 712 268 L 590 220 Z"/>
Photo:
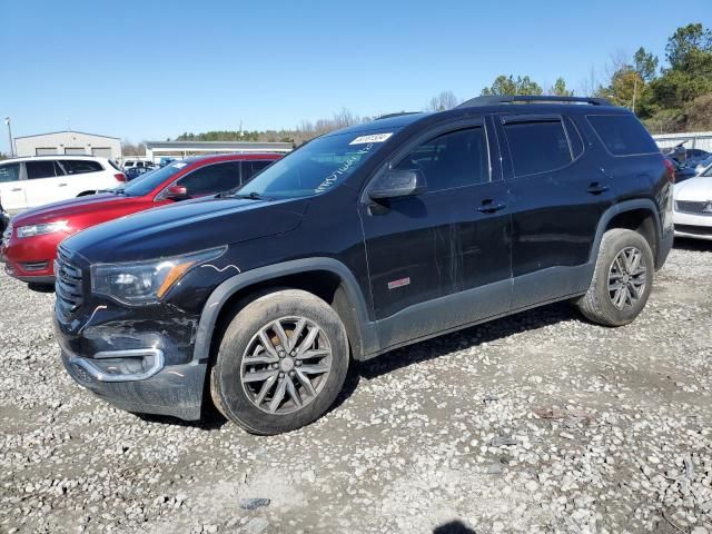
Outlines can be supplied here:
<path id="1" fill-rule="evenodd" d="M 0 196 L 6 209 L 23 209 L 91 195 L 126 181 L 123 172 L 96 156 L 37 156 L 0 161 Z"/>

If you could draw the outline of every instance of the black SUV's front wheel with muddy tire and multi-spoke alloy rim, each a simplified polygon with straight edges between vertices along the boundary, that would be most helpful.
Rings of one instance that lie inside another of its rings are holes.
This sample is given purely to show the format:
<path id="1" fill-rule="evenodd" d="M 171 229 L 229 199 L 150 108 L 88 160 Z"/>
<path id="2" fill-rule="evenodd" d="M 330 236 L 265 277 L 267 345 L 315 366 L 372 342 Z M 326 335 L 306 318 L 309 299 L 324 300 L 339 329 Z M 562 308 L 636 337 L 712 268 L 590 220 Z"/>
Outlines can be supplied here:
<path id="1" fill-rule="evenodd" d="M 218 411 L 247 432 L 281 434 L 334 404 L 348 360 L 346 329 L 328 304 L 307 291 L 276 290 L 251 300 L 227 326 L 210 394 Z"/>

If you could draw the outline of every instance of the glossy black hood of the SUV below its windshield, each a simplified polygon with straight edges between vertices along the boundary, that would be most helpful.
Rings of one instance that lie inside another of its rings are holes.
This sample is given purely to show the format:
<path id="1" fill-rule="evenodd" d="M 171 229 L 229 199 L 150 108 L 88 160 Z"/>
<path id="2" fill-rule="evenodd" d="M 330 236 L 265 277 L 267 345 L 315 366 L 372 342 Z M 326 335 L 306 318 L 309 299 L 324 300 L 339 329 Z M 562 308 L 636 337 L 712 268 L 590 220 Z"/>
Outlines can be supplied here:
<path id="1" fill-rule="evenodd" d="M 111 220 L 62 241 L 89 263 L 154 259 L 284 234 L 299 226 L 308 199 L 209 198 Z"/>

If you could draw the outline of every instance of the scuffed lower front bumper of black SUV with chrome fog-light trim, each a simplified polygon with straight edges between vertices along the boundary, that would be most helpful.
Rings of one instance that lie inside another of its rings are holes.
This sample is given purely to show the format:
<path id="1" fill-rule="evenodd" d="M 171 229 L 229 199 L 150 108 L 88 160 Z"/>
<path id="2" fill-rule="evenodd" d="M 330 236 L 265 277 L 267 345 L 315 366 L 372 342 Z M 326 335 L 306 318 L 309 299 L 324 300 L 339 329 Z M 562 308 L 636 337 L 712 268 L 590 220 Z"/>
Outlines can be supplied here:
<path id="1" fill-rule="evenodd" d="M 200 418 L 207 364 L 166 365 L 162 352 L 151 348 L 80 356 L 69 348 L 57 319 L 55 328 L 69 375 L 103 400 L 127 412 Z M 136 372 L 138 353 L 155 356 L 146 358 L 142 373 Z"/>

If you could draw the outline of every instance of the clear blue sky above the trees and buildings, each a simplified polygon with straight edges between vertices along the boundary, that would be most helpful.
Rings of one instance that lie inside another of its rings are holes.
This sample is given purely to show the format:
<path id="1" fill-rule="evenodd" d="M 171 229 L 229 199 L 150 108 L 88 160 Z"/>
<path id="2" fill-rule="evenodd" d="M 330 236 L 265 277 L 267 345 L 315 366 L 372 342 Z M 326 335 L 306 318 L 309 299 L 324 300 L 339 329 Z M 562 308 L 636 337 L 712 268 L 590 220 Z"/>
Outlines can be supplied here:
<path id="1" fill-rule="evenodd" d="M 710 21 L 710 0 L 0 0 L 0 118 L 138 142 L 421 110 L 502 73 L 578 93 L 612 55 L 662 60 L 678 27 Z"/>

